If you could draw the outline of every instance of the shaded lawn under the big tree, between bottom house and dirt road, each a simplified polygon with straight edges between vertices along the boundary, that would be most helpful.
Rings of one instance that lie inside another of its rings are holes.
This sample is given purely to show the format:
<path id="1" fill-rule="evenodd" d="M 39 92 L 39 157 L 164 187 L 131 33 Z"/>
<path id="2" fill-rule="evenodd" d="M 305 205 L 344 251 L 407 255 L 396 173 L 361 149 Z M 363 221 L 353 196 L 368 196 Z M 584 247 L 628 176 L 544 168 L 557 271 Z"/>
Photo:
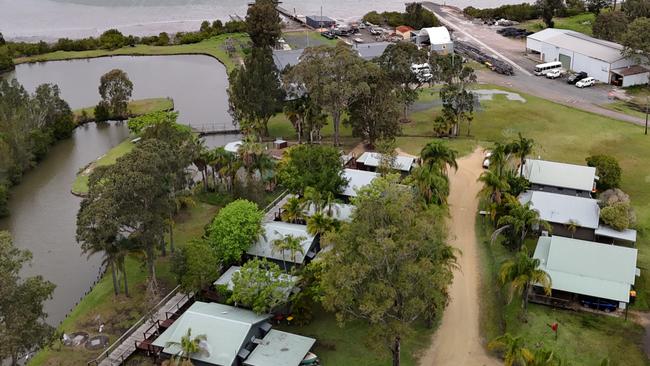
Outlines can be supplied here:
<path id="1" fill-rule="evenodd" d="M 368 326 L 355 321 L 341 328 L 333 314 L 317 310 L 314 320 L 306 326 L 274 325 L 276 329 L 316 338 L 314 353 L 323 365 L 380 366 L 391 365 L 390 353 L 385 348 L 367 344 Z M 413 333 L 402 341 L 402 365 L 415 366 L 419 352 L 431 344 L 434 329 L 421 324 L 413 327 Z M 382 346 L 378 346 L 382 347 Z"/>

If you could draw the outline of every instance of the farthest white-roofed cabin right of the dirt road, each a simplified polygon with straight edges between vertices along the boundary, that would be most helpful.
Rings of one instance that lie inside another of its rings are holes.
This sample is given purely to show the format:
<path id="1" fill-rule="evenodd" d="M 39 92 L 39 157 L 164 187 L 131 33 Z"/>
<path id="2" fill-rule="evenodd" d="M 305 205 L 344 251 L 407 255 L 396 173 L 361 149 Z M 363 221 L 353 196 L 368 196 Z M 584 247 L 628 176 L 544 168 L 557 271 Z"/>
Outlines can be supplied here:
<path id="1" fill-rule="evenodd" d="M 596 191 L 596 168 L 554 161 L 526 159 L 524 178 L 531 190 L 590 198 Z"/>

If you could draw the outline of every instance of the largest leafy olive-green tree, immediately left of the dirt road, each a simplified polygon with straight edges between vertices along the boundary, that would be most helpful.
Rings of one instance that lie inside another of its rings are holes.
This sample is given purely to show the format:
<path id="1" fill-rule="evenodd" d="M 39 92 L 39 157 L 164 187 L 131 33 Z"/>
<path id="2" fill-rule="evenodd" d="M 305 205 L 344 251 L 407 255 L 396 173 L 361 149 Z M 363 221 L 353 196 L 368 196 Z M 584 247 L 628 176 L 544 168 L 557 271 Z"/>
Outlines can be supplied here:
<path id="1" fill-rule="evenodd" d="M 352 222 L 325 235 L 323 305 L 337 319 L 368 322 L 375 344 L 399 364 L 412 323 L 440 315 L 455 263 L 445 243 L 443 210 L 422 210 L 395 176 L 359 191 Z"/>

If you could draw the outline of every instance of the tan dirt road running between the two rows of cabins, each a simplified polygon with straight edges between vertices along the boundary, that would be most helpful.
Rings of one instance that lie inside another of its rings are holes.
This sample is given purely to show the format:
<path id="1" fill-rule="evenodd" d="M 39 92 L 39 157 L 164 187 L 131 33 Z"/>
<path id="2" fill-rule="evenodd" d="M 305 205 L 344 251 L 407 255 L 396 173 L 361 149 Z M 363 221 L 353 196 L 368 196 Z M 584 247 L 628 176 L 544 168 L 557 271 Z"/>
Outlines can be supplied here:
<path id="1" fill-rule="evenodd" d="M 479 335 L 479 258 L 474 230 L 478 209 L 476 181 L 482 172 L 483 151 L 458 160 L 458 171 L 450 171 L 450 243 L 461 250 L 460 269 L 454 273 L 449 289 L 450 303 L 445 309 L 433 343 L 420 360 L 421 366 L 497 366 L 488 356 Z"/>

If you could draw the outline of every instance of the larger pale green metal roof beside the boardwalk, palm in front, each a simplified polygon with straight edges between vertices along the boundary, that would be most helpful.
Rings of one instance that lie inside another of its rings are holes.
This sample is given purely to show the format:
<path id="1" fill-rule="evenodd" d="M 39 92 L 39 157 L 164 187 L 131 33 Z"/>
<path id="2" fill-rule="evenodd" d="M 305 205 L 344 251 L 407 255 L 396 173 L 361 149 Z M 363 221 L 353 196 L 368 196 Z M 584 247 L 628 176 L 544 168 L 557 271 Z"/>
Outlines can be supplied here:
<path id="1" fill-rule="evenodd" d="M 237 353 L 248 341 L 247 335 L 252 327 L 265 322 L 270 315 L 257 315 L 250 310 L 233 306 L 195 302 L 155 341 L 154 345 L 163 347 L 163 352 L 178 354 L 180 347 L 169 342 L 180 343 L 188 328 L 192 337 L 206 336 L 207 352 L 192 355 L 192 359 L 213 365 L 230 366 Z"/>

